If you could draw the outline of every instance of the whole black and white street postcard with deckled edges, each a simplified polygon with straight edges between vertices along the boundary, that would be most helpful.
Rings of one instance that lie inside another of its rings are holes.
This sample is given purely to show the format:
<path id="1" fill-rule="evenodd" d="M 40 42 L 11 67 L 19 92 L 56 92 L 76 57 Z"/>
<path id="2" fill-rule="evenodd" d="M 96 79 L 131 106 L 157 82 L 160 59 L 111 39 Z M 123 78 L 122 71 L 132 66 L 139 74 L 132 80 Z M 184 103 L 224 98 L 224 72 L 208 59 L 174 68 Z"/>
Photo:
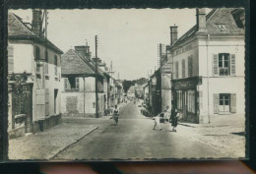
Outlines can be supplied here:
<path id="1" fill-rule="evenodd" d="M 8 9 L 8 159 L 244 159 L 245 9 Z"/>

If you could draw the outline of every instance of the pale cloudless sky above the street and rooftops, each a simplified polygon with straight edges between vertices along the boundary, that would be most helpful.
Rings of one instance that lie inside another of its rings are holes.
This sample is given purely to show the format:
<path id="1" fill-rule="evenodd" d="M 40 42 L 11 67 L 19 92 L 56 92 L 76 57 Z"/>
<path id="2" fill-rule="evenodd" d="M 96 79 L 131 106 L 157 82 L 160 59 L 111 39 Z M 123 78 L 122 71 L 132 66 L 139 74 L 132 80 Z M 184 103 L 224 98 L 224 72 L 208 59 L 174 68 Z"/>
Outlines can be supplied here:
<path id="1" fill-rule="evenodd" d="M 32 9 L 10 10 L 32 22 Z M 208 12 L 208 11 L 207 11 Z M 196 24 L 195 9 L 48 10 L 47 38 L 63 52 L 76 45 L 91 46 L 97 57 L 122 80 L 148 78 L 158 68 L 158 44 L 169 44 L 169 27 L 178 37 Z"/>

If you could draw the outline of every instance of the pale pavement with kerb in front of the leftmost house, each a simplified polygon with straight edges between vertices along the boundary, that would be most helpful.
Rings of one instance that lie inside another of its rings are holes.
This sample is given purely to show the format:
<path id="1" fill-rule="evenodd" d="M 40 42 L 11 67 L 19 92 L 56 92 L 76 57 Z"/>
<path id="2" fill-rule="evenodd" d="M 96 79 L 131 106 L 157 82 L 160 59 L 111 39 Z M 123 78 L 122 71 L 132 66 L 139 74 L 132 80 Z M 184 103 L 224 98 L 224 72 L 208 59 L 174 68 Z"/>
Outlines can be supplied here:
<path id="1" fill-rule="evenodd" d="M 9 141 L 9 159 L 50 159 L 97 129 L 62 123 L 54 128 Z"/>

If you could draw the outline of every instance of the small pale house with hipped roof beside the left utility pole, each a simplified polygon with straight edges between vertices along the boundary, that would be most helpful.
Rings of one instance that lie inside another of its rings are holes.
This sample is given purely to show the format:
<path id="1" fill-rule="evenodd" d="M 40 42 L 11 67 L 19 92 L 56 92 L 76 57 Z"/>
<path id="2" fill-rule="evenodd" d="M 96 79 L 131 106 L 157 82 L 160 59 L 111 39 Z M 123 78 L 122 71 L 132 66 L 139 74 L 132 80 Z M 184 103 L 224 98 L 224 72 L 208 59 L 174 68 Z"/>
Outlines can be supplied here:
<path id="1" fill-rule="evenodd" d="M 62 56 L 61 109 L 65 116 L 96 115 L 96 68 L 89 46 L 75 46 Z M 107 78 L 98 68 L 97 91 L 99 115 L 107 109 Z"/>

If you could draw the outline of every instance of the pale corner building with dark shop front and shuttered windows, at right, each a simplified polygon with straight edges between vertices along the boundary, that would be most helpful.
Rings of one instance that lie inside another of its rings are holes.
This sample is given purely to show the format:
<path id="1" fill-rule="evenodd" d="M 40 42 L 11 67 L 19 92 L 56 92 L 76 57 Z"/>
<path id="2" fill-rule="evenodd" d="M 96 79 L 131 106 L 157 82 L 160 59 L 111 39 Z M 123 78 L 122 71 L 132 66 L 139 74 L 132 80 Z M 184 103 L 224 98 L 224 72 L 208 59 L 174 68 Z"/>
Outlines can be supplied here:
<path id="1" fill-rule="evenodd" d="M 234 11 L 206 15 L 197 9 L 196 26 L 180 38 L 177 27 L 170 28 L 173 104 L 183 121 L 210 123 L 215 115 L 245 114 L 244 23 Z"/>

